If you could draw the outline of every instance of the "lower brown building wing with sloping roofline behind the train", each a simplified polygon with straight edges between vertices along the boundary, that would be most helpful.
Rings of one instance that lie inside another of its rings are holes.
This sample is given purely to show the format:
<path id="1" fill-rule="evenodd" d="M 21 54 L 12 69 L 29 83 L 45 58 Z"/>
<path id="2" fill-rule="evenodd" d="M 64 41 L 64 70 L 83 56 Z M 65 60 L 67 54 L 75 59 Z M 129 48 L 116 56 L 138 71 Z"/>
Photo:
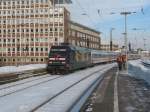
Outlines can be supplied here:
<path id="1" fill-rule="evenodd" d="M 70 21 L 69 43 L 76 46 L 100 49 L 100 32 Z"/>

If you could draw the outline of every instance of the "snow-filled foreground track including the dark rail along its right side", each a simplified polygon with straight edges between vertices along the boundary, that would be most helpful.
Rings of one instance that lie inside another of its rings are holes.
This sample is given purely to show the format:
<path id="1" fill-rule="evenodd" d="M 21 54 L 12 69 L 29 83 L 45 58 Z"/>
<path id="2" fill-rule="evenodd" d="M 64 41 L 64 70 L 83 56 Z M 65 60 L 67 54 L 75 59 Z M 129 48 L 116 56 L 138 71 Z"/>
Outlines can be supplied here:
<path id="1" fill-rule="evenodd" d="M 100 69 L 93 68 L 87 70 L 88 72 L 81 70 L 70 75 L 61 76 L 61 78 L 56 78 L 56 80 L 53 81 L 47 80 L 46 82 L 41 82 L 37 85 L 35 84 L 33 86 L 24 87 L 17 91 L 7 93 L 7 95 L 4 94 L 0 97 L 0 107 L 2 107 L 1 110 L 5 112 L 40 112 L 39 110 L 49 102 L 57 99 L 59 96 L 63 95 L 77 85 L 80 86 L 80 83 L 85 81 L 88 82 L 88 80 L 93 77 L 95 77 L 95 79 L 98 78 L 96 74 L 107 68 L 108 66 L 103 66 Z M 9 101 L 9 99 L 16 101 L 16 103 L 13 104 L 13 107 L 5 107 L 6 104 L 9 105 L 8 103 L 12 102 Z M 4 100 L 6 102 L 2 103 Z"/>

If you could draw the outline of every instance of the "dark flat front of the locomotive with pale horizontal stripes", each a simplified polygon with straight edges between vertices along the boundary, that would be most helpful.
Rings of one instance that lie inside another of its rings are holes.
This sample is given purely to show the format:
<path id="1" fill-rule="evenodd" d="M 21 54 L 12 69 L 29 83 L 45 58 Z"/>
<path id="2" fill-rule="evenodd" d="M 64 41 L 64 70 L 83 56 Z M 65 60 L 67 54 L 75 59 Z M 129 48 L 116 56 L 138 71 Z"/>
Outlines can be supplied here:
<path id="1" fill-rule="evenodd" d="M 47 70 L 50 73 L 64 73 L 69 71 L 69 54 L 68 46 L 52 46 L 49 52 Z"/>

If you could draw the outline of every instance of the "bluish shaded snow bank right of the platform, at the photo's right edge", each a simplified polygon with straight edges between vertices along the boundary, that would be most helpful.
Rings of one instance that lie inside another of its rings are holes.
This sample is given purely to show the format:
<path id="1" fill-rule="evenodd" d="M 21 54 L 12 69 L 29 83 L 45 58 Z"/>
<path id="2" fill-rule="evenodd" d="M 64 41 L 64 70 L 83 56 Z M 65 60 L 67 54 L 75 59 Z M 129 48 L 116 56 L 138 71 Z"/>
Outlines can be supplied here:
<path id="1" fill-rule="evenodd" d="M 150 68 L 145 67 L 141 60 L 129 61 L 128 70 L 130 76 L 138 79 L 144 79 L 150 84 Z"/>

